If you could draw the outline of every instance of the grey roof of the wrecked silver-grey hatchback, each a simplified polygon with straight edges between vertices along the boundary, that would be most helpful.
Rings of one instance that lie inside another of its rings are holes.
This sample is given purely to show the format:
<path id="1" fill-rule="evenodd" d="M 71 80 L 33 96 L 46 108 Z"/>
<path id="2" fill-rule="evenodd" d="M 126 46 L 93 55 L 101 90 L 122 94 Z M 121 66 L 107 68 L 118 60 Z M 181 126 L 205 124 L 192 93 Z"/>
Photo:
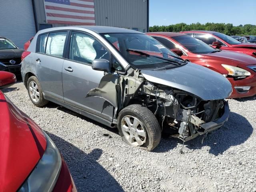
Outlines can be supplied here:
<path id="1" fill-rule="evenodd" d="M 96 33 L 141 33 L 139 31 L 135 30 L 130 30 L 126 28 L 119 28 L 119 27 L 108 27 L 108 26 L 64 26 L 64 27 L 53 27 L 53 28 L 48 28 L 44 30 L 40 30 L 40 33 L 44 32 L 51 32 L 55 30 L 78 30 L 80 29 L 87 29 L 94 31 Z"/>

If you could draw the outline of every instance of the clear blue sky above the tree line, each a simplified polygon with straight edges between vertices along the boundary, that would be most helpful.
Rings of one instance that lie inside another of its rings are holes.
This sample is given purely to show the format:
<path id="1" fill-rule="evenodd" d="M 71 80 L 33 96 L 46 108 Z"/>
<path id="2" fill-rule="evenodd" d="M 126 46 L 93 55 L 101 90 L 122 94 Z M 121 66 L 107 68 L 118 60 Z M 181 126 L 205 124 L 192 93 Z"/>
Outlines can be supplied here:
<path id="1" fill-rule="evenodd" d="M 149 0 L 149 26 L 182 22 L 256 25 L 256 0 Z"/>

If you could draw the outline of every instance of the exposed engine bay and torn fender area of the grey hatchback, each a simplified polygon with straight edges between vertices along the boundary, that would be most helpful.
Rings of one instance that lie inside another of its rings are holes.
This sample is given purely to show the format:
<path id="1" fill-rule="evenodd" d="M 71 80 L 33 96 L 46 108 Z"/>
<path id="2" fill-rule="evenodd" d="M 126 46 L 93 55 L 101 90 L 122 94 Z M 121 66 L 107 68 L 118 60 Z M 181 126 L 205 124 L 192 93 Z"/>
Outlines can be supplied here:
<path id="1" fill-rule="evenodd" d="M 115 107 L 113 123 L 122 108 L 141 104 L 157 117 L 162 130 L 183 141 L 212 131 L 203 125 L 224 114 L 223 99 L 202 100 L 186 91 L 149 82 L 132 68 L 127 75 L 106 74 L 88 96 L 102 97 Z"/>

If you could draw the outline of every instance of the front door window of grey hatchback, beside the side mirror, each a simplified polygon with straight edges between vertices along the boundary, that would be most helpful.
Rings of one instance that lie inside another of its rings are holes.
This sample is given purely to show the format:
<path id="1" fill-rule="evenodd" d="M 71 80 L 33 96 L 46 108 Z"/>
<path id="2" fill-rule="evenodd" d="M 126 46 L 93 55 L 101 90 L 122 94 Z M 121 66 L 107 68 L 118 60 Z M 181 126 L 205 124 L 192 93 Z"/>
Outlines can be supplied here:
<path id="1" fill-rule="evenodd" d="M 69 58 L 74 61 L 92 64 L 94 59 L 110 60 L 110 53 L 91 36 L 80 32 L 72 32 Z"/>

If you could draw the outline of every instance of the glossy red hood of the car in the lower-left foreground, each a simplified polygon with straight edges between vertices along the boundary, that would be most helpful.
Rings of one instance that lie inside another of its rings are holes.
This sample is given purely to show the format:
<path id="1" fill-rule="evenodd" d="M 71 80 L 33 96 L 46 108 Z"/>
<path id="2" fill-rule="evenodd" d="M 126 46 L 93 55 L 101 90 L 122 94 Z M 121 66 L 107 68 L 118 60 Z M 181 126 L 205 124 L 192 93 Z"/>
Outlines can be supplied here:
<path id="1" fill-rule="evenodd" d="M 18 190 L 45 148 L 41 129 L 0 91 L 0 191 Z"/>

